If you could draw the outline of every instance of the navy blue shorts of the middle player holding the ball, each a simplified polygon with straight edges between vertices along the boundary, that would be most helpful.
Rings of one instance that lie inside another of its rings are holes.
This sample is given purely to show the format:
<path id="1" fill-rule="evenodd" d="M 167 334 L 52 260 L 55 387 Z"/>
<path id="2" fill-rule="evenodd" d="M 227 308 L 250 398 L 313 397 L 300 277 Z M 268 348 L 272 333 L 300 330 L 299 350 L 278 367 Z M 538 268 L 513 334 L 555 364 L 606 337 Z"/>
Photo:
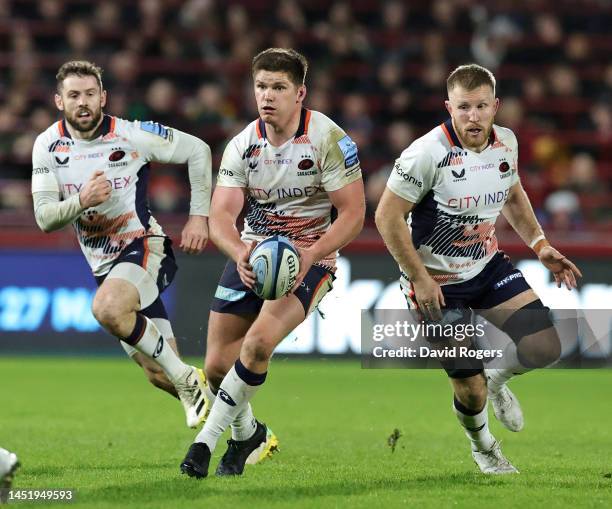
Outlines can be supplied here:
<path id="1" fill-rule="evenodd" d="M 334 275 L 317 265 L 313 265 L 294 295 L 304 306 L 306 316 L 321 302 L 321 299 L 332 289 Z M 217 291 L 210 309 L 217 313 L 235 315 L 257 314 L 265 301 L 253 290 L 245 286 L 238 275 L 236 263 L 228 261 L 219 280 Z"/>

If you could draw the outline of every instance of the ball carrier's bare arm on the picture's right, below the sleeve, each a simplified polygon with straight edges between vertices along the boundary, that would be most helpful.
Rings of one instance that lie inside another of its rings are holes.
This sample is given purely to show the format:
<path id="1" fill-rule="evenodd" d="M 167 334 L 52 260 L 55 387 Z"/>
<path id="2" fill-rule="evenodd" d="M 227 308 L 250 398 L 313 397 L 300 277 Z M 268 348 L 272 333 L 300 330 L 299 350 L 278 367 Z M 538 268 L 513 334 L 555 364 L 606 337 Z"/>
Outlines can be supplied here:
<path id="1" fill-rule="evenodd" d="M 336 220 L 329 229 L 310 247 L 300 248 L 300 272 L 296 277 L 294 290 L 297 289 L 312 265 L 338 249 L 346 246 L 363 228 L 365 218 L 365 193 L 363 180 L 328 191 L 332 205 L 338 211 Z"/>

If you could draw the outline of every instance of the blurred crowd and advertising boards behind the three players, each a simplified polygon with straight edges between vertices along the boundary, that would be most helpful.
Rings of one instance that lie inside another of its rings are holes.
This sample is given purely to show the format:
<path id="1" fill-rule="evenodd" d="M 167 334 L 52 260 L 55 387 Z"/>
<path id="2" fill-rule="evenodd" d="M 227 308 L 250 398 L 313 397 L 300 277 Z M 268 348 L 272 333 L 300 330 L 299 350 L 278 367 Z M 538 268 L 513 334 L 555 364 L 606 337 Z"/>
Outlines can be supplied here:
<path id="1" fill-rule="evenodd" d="M 394 159 L 445 119 L 447 74 L 470 61 L 497 76 L 497 123 L 517 133 L 523 184 L 553 244 L 585 273 L 580 291 L 549 291 L 549 276 L 503 218 L 501 246 L 549 306 L 609 307 L 610 26 L 603 0 L 0 0 L 0 351 L 121 353 L 89 313 L 94 285 L 72 230 L 43 234 L 31 210 L 32 144 L 58 118 L 54 76 L 69 59 L 105 69 L 108 113 L 204 139 L 216 173 L 226 142 L 256 117 L 252 56 L 283 46 L 309 58 L 305 104 L 357 142 L 368 219 L 343 251 L 326 318 L 313 316 L 283 352 L 357 352 L 360 309 L 402 305 L 373 210 Z M 186 171 L 154 165 L 150 199 L 177 239 L 189 199 Z M 222 264 L 213 247 L 179 258 L 166 298 L 185 353 L 204 351 Z"/>

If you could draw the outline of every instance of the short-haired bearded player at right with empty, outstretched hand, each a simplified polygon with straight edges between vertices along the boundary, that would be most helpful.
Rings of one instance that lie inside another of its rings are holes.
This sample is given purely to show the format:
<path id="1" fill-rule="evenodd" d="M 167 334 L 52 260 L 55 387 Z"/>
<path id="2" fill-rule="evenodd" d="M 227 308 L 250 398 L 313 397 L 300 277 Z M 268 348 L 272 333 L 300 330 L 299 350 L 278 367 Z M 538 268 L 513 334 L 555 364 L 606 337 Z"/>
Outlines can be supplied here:
<path id="1" fill-rule="evenodd" d="M 376 224 L 400 265 L 400 286 L 410 308 L 428 320 L 440 320 L 450 309 L 481 310 L 517 345 L 514 360 L 506 359 L 503 369 L 487 370 L 487 378 L 481 361 L 468 366 L 442 362 L 453 387 L 455 413 L 480 470 L 516 473 L 489 431 L 487 400 L 505 427 L 519 431 L 522 411 L 506 382 L 555 362 L 560 341 L 548 308 L 498 249 L 499 213 L 559 287 L 575 288 L 581 273 L 549 244 L 536 220 L 518 175 L 516 136 L 493 124 L 499 106 L 493 74 L 475 64 L 460 66 L 448 77 L 447 91 L 450 118 L 396 160 Z"/>

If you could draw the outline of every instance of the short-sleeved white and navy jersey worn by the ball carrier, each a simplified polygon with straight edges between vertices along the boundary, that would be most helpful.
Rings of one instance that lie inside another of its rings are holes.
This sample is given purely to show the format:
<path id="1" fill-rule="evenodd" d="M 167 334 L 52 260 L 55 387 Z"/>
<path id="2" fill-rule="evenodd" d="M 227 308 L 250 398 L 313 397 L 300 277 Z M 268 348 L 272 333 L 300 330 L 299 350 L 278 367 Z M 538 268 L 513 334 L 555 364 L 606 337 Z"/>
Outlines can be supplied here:
<path id="1" fill-rule="evenodd" d="M 357 146 L 322 113 L 302 109 L 295 136 L 280 147 L 266 138 L 263 120 L 251 122 L 228 144 L 217 185 L 246 191 L 243 240 L 271 235 L 298 247 L 314 244 L 331 224 L 328 192 L 361 179 Z M 333 269 L 336 253 L 318 265 Z"/>

